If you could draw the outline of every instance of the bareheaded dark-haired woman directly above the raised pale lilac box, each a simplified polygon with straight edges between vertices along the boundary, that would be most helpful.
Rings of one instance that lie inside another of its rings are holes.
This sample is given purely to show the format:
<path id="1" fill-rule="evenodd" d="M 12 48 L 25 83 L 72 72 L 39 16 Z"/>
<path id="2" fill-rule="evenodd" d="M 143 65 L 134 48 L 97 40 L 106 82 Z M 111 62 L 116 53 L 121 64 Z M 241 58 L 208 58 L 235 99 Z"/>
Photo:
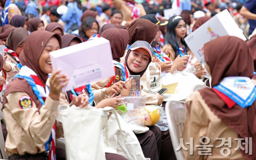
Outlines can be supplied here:
<path id="1" fill-rule="evenodd" d="M 97 36 L 99 32 L 99 24 L 93 17 L 87 17 L 83 20 L 81 26 L 78 28 L 79 37 L 86 42 L 90 38 Z"/>

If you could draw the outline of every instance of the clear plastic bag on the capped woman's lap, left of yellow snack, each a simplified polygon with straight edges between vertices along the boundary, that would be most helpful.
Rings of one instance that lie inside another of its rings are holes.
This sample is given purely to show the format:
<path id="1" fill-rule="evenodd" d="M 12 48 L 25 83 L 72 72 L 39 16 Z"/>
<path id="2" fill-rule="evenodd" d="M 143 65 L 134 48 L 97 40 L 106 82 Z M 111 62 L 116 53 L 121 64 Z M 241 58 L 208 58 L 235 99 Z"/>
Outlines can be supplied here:
<path id="1" fill-rule="evenodd" d="M 124 120 L 129 124 L 134 124 L 137 126 L 144 126 L 144 107 L 146 106 L 146 97 L 120 97 L 121 102 L 118 106 L 126 106 L 126 112 L 118 113 Z M 117 107 L 118 107 L 117 106 Z"/>

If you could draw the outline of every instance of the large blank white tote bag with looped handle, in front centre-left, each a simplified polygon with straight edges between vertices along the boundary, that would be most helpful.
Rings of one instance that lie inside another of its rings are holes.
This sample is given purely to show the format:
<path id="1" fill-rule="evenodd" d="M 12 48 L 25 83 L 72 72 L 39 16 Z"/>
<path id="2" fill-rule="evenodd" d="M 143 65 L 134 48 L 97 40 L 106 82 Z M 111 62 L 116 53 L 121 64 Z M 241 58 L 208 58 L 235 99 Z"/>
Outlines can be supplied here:
<path id="1" fill-rule="evenodd" d="M 97 109 L 92 106 L 79 108 L 73 105 L 61 110 L 68 160 L 106 160 L 102 129 L 105 126 L 105 134 L 108 137 L 107 112 L 110 110 L 117 116 L 112 107 Z M 118 119 L 117 122 L 120 128 Z M 122 130 L 120 135 L 124 140 Z M 106 144 L 108 145 L 108 139 Z"/>

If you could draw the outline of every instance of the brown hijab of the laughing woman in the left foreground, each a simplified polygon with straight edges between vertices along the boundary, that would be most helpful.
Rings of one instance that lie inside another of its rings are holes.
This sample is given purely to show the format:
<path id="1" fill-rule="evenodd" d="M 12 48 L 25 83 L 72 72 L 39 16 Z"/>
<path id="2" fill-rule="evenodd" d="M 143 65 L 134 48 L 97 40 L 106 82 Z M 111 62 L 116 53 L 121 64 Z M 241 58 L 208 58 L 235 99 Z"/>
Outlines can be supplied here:
<path id="1" fill-rule="evenodd" d="M 25 40 L 23 50 L 20 53 L 20 62 L 23 66 L 28 66 L 31 68 L 43 84 L 46 83 L 48 74 L 44 73 L 39 66 L 39 59 L 46 46 L 48 40 L 52 37 L 56 37 L 61 44 L 61 38 L 58 34 L 53 32 L 48 32 L 45 30 L 37 30 L 32 32 Z"/>

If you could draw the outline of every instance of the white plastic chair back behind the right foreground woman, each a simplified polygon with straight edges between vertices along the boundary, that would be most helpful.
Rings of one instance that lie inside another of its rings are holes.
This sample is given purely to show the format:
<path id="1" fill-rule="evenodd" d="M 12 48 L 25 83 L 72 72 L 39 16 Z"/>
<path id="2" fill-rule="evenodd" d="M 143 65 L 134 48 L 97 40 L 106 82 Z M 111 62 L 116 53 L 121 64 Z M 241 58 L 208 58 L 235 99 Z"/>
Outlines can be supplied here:
<path id="1" fill-rule="evenodd" d="M 166 117 L 168 120 L 170 136 L 172 139 L 172 146 L 177 160 L 184 160 L 182 150 L 176 151 L 180 144 L 180 138 L 182 136 L 182 130 L 186 118 L 185 107 L 188 104 L 185 102 L 168 101 L 165 105 Z"/>

